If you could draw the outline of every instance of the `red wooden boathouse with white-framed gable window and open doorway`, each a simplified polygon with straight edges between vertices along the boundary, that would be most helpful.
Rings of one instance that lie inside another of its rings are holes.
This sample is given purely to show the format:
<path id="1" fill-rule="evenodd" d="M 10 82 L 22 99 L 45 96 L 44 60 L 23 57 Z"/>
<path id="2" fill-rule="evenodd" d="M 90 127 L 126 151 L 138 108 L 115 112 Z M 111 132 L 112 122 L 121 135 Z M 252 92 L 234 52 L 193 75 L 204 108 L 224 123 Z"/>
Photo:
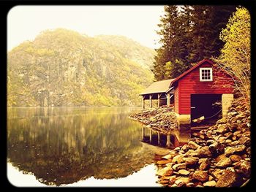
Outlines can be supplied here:
<path id="1" fill-rule="evenodd" d="M 174 98 L 174 111 L 182 128 L 201 116 L 209 118 L 216 112 L 222 112 L 222 117 L 227 115 L 228 107 L 233 101 L 234 83 L 232 77 L 217 64 L 209 59 L 203 59 L 187 72 L 170 80 L 165 89 L 166 94 L 173 94 L 170 97 Z M 143 96 L 143 104 L 144 99 L 154 98 L 154 93 L 148 91 L 140 95 Z M 170 100 L 167 100 L 168 107 Z"/>

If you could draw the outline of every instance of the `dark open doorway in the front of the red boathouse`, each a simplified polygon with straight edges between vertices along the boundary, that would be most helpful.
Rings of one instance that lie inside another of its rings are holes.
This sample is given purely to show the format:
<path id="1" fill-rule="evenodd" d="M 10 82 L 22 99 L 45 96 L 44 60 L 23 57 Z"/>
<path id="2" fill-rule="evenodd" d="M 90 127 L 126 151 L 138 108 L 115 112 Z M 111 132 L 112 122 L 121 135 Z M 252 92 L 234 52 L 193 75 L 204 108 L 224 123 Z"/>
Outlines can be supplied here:
<path id="1" fill-rule="evenodd" d="M 222 94 L 191 94 L 191 126 L 205 126 L 222 118 Z"/>

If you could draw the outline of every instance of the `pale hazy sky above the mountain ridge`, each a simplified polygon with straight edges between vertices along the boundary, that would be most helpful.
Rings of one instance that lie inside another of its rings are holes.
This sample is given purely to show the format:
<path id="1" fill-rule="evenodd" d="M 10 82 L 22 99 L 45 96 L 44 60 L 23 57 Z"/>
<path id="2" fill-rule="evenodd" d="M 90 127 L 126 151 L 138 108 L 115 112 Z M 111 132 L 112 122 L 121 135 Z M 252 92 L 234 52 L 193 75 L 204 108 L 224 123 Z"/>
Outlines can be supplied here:
<path id="1" fill-rule="evenodd" d="M 40 31 L 67 28 L 87 34 L 124 35 L 141 45 L 159 45 L 159 16 L 163 6 L 16 6 L 7 15 L 7 50 Z"/>

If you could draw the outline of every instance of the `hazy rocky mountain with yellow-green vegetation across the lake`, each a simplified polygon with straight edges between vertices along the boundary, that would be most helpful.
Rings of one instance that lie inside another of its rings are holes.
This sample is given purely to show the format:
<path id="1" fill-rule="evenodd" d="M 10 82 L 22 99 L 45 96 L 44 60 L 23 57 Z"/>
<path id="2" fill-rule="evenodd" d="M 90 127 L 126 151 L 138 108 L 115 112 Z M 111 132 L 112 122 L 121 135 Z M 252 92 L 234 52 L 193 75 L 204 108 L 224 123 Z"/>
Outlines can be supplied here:
<path id="1" fill-rule="evenodd" d="M 7 105 L 139 105 L 154 54 L 127 37 L 43 31 L 7 53 Z"/>

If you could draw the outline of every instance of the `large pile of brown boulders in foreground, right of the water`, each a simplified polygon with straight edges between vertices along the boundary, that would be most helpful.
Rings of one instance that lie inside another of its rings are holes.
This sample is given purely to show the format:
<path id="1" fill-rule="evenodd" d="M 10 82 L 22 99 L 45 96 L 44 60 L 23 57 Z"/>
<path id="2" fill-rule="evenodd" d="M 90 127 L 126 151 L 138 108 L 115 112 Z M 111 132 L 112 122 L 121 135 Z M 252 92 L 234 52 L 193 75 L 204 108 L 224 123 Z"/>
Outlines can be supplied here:
<path id="1" fill-rule="evenodd" d="M 156 162 L 167 187 L 238 187 L 251 173 L 250 109 L 235 99 L 226 118 Z"/>

